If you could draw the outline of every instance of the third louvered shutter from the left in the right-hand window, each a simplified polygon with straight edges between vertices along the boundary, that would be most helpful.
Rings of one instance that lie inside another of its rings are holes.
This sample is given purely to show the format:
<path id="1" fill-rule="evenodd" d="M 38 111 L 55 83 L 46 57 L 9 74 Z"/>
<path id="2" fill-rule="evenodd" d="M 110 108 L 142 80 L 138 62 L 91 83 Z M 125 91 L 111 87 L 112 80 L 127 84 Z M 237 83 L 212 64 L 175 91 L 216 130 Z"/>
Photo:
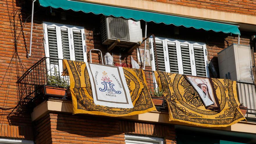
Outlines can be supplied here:
<path id="1" fill-rule="evenodd" d="M 180 43 L 180 52 L 182 57 L 183 74 L 192 75 L 191 54 L 190 54 L 189 44 Z"/>

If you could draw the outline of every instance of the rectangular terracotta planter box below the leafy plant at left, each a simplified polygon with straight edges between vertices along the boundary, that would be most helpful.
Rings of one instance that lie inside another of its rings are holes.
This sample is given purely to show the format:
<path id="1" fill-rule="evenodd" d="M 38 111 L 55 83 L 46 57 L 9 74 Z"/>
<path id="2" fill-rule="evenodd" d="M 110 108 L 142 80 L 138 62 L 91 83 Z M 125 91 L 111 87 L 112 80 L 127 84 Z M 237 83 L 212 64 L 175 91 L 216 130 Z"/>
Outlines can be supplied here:
<path id="1" fill-rule="evenodd" d="M 66 89 L 56 88 L 55 86 L 44 85 L 43 93 L 52 97 L 62 98 L 66 94 Z"/>

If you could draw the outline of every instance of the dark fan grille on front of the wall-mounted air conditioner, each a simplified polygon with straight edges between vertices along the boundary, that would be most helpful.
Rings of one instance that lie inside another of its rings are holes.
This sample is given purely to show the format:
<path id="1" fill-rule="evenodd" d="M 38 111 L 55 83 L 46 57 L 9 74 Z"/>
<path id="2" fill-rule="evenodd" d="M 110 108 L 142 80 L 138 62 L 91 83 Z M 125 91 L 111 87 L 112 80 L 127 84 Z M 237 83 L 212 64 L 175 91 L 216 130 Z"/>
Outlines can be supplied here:
<path id="1" fill-rule="evenodd" d="M 130 40 L 129 24 L 127 19 L 108 17 L 110 38 Z"/>

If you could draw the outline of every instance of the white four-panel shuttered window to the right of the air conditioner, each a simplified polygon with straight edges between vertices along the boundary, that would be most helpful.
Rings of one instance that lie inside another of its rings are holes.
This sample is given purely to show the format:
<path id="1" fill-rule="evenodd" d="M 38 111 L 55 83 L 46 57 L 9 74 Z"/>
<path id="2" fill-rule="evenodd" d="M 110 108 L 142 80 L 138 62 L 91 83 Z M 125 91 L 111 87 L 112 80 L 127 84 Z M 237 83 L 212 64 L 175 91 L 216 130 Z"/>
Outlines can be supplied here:
<path id="1" fill-rule="evenodd" d="M 156 55 L 158 68 L 161 71 L 209 77 L 207 67 L 206 45 L 200 42 L 156 38 L 155 54 L 153 39 L 150 39 L 152 68 L 156 70 Z"/>

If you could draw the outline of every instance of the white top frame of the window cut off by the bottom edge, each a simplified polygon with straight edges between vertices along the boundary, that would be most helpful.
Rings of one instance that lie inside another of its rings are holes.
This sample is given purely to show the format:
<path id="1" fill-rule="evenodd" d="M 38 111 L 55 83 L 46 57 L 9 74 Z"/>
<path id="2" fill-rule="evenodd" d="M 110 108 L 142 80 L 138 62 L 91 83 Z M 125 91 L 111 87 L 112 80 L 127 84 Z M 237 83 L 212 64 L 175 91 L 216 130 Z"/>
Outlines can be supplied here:
<path id="1" fill-rule="evenodd" d="M 159 137 L 153 137 L 153 136 L 138 136 L 138 135 L 130 135 L 125 134 L 125 143 L 139 143 L 140 141 L 146 141 L 146 142 L 154 142 L 159 144 L 164 144 L 164 139 Z M 140 142 L 141 143 L 141 142 Z"/>

